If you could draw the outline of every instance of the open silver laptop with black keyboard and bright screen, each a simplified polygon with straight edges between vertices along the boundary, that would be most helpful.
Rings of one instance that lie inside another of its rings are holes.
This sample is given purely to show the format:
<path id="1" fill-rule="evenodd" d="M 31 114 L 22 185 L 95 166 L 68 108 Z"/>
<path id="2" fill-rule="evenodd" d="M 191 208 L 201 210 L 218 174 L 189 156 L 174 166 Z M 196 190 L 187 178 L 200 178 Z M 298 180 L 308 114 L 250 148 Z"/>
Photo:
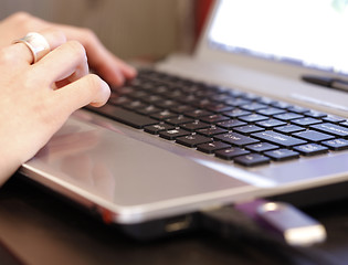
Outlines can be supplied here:
<path id="1" fill-rule="evenodd" d="M 347 12 L 217 1 L 193 55 L 74 113 L 20 172 L 146 239 L 194 226 L 204 209 L 344 183 Z"/>

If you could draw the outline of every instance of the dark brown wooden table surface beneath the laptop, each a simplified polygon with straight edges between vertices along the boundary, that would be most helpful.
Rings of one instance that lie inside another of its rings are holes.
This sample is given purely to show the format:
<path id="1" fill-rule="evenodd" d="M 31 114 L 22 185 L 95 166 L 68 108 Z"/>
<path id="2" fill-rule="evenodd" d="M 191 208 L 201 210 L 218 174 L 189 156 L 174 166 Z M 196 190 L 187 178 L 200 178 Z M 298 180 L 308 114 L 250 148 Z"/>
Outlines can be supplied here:
<path id="1" fill-rule="evenodd" d="M 24 264 L 348 264 L 348 200 L 305 209 L 328 232 L 324 244 L 284 248 L 226 241 L 204 231 L 137 242 L 14 176 L 0 189 L 0 242 Z M 1 246 L 0 244 L 0 246 Z M 15 265 L 0 248 L 0 264 Z"/>

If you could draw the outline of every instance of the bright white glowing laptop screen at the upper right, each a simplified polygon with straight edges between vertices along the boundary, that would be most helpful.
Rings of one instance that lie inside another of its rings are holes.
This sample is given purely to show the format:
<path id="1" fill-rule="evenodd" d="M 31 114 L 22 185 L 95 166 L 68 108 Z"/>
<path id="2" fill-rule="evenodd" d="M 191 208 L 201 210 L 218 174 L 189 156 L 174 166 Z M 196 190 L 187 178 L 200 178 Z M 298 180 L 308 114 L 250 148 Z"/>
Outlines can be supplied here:
<path id="1" fill-rule="evenodd" d="M 211 49 L 348 74 L 348 1 L 221 0 Z"/>

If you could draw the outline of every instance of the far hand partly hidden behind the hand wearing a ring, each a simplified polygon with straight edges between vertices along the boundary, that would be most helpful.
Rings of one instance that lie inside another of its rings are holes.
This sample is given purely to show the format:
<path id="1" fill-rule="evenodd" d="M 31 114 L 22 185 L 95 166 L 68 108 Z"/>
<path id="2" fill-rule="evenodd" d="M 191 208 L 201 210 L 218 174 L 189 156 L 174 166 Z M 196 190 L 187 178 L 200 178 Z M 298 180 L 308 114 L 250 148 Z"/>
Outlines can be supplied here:
<path id="1" fill-rule="evenodd" d="M 135 77 L 135 68 L 106 50 L 91 30 L 50 23 L 23 12 L 12 14 L 0 23 L 0 47 L 10 45 L 13 40 L 24 36 L 28 32 L 46 29 L 60 30 L 64 32 L 67 40 L 82 43 L 91 68 L 110 85 L 120 86 L 125 80 Z"/>

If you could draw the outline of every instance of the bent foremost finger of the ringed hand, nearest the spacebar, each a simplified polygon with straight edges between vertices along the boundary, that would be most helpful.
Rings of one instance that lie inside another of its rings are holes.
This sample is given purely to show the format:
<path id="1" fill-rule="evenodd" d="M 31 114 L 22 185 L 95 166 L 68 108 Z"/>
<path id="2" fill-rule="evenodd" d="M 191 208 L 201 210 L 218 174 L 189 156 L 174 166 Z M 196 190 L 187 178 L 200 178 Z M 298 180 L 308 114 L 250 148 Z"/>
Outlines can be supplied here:
<path id="1" fill-rule="evenodd" d="M 95 107 L 103 106 L 110 95 L 110 89 L 99 76 L 88 74 L 55 91 L 54 94 L 62 110 L 71 114 L 88 104 Z"/>

